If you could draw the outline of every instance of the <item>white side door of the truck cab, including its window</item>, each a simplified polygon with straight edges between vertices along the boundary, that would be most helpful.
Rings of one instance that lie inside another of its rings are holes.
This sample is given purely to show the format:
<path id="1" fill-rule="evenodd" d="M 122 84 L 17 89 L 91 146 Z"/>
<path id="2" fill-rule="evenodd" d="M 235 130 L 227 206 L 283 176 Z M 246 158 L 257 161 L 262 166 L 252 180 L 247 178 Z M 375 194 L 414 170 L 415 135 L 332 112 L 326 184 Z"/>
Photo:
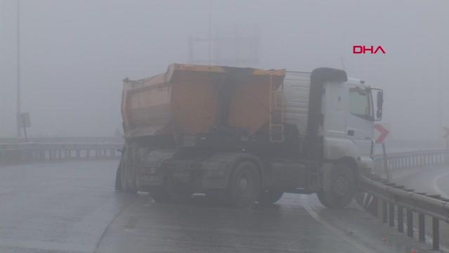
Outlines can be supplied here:
<path id="1" fill-rule="evenodd" d="M 347 117 L 347 138 L 360 150 L 360 156 L 370 157 L 374 110 L 370 89 L 365 86 L 349 85 L 349 112 Z"/>

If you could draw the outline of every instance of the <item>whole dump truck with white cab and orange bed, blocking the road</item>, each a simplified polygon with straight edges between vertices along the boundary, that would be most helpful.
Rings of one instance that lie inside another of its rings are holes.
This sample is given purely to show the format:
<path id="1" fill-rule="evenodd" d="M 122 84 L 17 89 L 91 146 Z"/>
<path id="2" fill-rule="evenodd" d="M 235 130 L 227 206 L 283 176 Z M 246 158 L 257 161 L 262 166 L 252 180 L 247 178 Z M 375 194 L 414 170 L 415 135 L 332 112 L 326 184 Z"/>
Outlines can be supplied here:
<path id="1" fill-rule="evenodd" d="M 115 187 L 155 202 L 199 193 L 249 207 L 316 193 L 326 207 L 345 207 L 372 168 L 382 103 L 382 89 L 329 67 L 172 64 L 154 77 L 126 78 Z"/>

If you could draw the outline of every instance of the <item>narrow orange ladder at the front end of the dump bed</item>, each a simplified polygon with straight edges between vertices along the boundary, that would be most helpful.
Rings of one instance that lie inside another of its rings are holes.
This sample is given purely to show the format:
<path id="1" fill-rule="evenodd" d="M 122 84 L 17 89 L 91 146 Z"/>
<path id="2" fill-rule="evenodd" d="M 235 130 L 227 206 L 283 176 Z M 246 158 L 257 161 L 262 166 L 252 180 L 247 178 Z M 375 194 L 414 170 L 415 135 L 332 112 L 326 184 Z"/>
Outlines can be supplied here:
<path id="1" fill-rule="evenodd" d="M 276 87 L 273 83 L 273 74 L 270 74 L 270 119 L 269 135 L 270 142 L 284 141 L 284 84 Z"/>

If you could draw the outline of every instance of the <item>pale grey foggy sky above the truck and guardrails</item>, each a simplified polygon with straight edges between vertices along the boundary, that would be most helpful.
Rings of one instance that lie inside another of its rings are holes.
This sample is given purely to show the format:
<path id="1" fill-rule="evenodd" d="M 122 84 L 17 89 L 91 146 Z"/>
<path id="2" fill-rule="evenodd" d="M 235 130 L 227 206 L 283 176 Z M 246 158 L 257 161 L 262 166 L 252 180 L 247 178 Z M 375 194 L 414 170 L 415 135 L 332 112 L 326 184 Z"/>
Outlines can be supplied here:
<path id="1" fill-rule="evenodd" d="M 30 136 L 121 131 L 122 79 L 188 62 L 189 37 L 208 37 L 209 11 L 214 36 L 238 30 L 259 37 L 258 60 L 239 65 L 344 68 L 384 89 L 383 121 L 396 139 L 437 139 L 439 125 L 449 124 L 445 0 L 21 0 L 20 7 L 22 112 L 30 112 Z M 16 131 L 16 32 L 16 0 L 0 0 L 2 137 Z M 382 46 L 386 54 L 353 54 L 353 45 Z M 207 46 L 196 46 L 195 56 L 207 58 Z"/>

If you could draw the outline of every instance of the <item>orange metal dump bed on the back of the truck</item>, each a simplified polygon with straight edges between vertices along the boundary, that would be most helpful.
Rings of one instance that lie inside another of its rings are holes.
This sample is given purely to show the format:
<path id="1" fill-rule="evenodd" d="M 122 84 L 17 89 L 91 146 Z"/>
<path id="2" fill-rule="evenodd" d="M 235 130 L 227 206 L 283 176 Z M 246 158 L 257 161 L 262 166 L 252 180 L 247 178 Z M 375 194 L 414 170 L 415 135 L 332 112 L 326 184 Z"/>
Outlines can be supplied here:
<path id="1" fill-rule="evenodd" d="M 270 91 L 284 76 L 285 70 L 172 64 L 148 79 L 125 79 L 125 136 L 192 136 L 214 126 L 254 134 L 268 122 Z"/>

